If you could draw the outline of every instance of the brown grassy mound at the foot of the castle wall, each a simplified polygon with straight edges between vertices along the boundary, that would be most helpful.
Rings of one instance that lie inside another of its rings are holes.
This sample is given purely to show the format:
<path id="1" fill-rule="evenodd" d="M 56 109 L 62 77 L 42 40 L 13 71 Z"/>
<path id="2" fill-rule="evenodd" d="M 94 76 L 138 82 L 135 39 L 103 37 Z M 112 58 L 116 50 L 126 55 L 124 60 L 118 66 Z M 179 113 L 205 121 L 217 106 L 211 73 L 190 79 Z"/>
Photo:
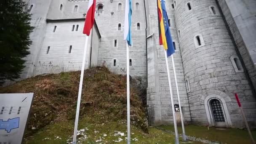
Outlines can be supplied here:
<path id="1" fill-rule="evenodd" d="M 1 88 L 0 93 L 35 93 L 27 128 L 27 136 L 31 136 L 47 125 L 75 119 L 79 80 L 79 71 L 39 75 Z M 147 133 L 147 117 L 138 95 L 139 89 L 131 87 L 131 123 Z M 126 106 L 125 76 L 115 75 L 106 67 L 85 71 L 82 117 L 95 124 L 123 123 Z"/>

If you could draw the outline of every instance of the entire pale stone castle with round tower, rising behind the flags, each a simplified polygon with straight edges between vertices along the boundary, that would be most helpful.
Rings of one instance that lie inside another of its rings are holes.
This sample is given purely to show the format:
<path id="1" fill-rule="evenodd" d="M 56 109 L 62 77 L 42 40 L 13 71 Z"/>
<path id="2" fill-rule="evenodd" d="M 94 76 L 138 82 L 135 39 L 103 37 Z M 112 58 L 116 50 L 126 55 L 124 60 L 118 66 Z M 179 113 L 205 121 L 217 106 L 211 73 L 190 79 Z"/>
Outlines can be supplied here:
<path id="1" fill-rule="evenodd" d="M 21 78 L 105 65 L 126 74 L 123 40 L 125 0 L 96 0 L 93 30 L 82 34 L 88 0 L 27 0 L 32 14 L 31 54 Z M 236 91 L 250 125 L 256 126 L 256 1 L 165 0 L 176 53 L 173 55 L 184 120 L 209 126 L 243 127 Z M 157 1 L 132 0 L 130 75 L 147 88 L 151 125 L 172 123 Z M 174 103 L 178 104 L 169 59 Z"/>

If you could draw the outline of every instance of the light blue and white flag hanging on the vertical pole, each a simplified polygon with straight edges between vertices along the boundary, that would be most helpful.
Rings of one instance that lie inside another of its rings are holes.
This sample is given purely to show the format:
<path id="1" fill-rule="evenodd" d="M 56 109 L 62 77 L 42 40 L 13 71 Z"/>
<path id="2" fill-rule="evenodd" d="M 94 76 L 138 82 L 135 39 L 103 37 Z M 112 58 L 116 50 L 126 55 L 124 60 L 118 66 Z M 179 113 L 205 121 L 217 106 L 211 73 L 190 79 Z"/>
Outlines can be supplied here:
<path id="1" fill-rule="evenodd" d="M 124 27 L 124 40 L 127 40 L 128 45 L 132 44 L 131 41 L 131 0 L 125 0 L 125 27 Z"/>

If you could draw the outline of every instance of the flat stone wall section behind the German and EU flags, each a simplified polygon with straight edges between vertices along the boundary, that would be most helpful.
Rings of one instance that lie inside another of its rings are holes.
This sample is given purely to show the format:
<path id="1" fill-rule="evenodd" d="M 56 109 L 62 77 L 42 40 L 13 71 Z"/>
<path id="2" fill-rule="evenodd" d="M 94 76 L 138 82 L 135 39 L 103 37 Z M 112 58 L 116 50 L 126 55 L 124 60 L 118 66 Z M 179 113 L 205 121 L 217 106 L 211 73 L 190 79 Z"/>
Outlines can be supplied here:
<path id="1" fill-rule="evenodd" d="M 164 50 L 163 46 L 159 45 L 159 33 L 158 33 L 158 21 L 157 21 L 157 4 L 156 1 L 150 1 L 149 3 L 149 29 L 150 33 L 154 33 L 155 35 L 155 49 L 157 50 L 157 61 L 158 61 L 158 73 L 156 74 L 159 80 L 159 83 L 151 82 L 152 77 L 156 77 L 154 75 L 151 75 L 149 73 L 148 80 L 149 85 L 152 83 L 155 86 L 151 89 L 148 88 L 148 95 L 151 94 L 159 94 L 159 101 L 160 101 L 160 108 L 157 110 L 160 110 L 161 112 L 161 124 L 171 124 L 173 123 L 173 117 L 172 117 L 172 106 L 171 106 L 171 98 L 170 98 L 170 90 L 168 86 L 168 77 L 167 77 L 167 69 L 166 69 L 166 63 L 165 63 L 165 56 L 164 56 Z M 185 78 L 184 78 L 184 71 L 183 71 L 183 65 L 181 61 L 181 54 L 179 51 L 179 40 L 176 33 L 176 26 L 174 21 L 174 13 L 173 9 L 171 7 L 171 2 L 166 0 L 166 8 L 168 12 L 168 18 L 170 19 L 171 23 L 171 34 L 173 41 L 176 44 L 176 53 L 173 55 L 174 61 L 175 61 L 175 67 L 176 67 L 176 75 L 177 75 L 177 81 L 179 85 L 179 93 L 180 93 L 180 99 L 181 99 L 181 107 L 184 113 L 184 118 L 186 121 L 190 121 L 190 113 L 189 113 L 189 103 L 188 103 L 188 97 L 187 97 L 187 90 L 185 85 Z M 148 53 L 149 56 L 149 53 Z M 149 61 L 148 61 L 149 62 Z M 149 64 L 149 63 L 148 63 Z M 171 83 L 173 88 L 173 98 L 174 98 L 174 104 L 178 104 L 177 99 L 177 93 L 176 93 L 176 86 L 175 86 L 175 79 L 173 74 L 173 66 L 171 62 L 171 57 L 169 57 L 169 69 L 171 74 Z M 157 89 L 159 88 L 159 93 L 157 93 Z M 157 96 L 156 96 L 157 97 Z M 149 99 L 151 104 L 157 104 L 157 99 Z M 149 111 L 152 110 L 149 107 Z M 156 111 L 153 110 L 153 111 Z"/>

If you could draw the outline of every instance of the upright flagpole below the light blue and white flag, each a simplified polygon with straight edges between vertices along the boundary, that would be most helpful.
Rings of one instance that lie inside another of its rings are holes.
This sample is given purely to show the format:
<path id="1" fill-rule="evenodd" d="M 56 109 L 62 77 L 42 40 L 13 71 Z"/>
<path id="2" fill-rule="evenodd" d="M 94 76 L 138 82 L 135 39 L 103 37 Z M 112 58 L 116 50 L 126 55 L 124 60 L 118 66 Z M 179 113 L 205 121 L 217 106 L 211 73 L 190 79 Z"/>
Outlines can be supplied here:
<path id="1" fill-rule="evenodd" d="M 131 143 L 131 135 L 130 135 L 130 68 L 129 68 L 129 47 L 128 43 L 126 43 L 126 57 L 127 57 L 127 72 L 126 72 L 126 78 L 127 78 L 127 144 Z"/>

